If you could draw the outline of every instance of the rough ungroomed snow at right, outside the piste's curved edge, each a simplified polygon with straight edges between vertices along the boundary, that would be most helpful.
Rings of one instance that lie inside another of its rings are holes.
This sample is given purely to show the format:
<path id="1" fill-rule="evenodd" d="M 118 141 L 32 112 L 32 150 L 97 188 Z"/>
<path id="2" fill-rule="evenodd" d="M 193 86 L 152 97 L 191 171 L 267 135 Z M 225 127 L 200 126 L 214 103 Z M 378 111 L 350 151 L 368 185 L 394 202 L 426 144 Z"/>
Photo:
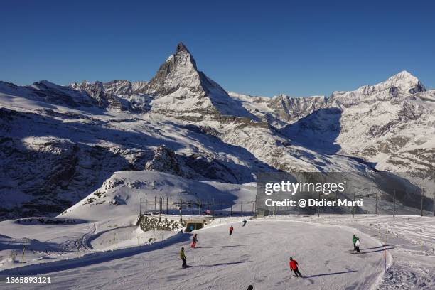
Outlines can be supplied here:
<path id="1" fill-rule="evenodd" d="M 321 215 L 299 220 L 348 225 L 387 245 L 392 260 L 375 289 L 435 289 L 435 218 L 415 215 Z"/>

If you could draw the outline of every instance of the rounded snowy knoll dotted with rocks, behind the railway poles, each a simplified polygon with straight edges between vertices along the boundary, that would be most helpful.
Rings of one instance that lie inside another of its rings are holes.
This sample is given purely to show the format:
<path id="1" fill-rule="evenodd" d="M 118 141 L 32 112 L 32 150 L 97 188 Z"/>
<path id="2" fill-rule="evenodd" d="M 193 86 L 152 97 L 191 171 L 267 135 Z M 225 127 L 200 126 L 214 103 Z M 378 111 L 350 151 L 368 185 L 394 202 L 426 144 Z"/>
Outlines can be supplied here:
<path id="1" fill-rule="evenodd" d="M 193 181 L 156 171 L 119 171 L 114 173 L 101 188 L 83 198 L 58 218 L 82 218 L 97 221 L 113 217 L 139 215 L 140 199 L 145 203 L 148 198 L 149 212 L 154 212 L 154 198 L 171 198 L 179 205 L 192 200 L 212 200 L 215 203 L 227 203 L 230 206 L 237 200 L 255 200 L 254 185 L 239 185 L 233 183 L 218 183 L 215 181 Z M 160 203 L 158 201 L 158 203 Z M 178 213 L 171 205 L 173 212 Z M 159 205 L 157 205 L 159 208 Z M 145 205 L 142 205 L 145 210 Z"/>

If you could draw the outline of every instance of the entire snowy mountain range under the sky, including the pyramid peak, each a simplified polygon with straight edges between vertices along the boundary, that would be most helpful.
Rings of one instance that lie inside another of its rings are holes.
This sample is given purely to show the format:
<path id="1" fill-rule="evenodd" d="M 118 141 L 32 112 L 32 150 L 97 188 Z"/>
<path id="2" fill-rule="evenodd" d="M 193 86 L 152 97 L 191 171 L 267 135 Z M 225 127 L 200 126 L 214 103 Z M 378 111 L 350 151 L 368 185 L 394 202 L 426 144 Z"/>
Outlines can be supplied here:
<path id="1" fill-rule="evenodd" d="M 61 213 L 117 171 L 126 183 L 133 171 L 235 185 L 264 171 L 433 178 L 434 104 L 406 72 L 329 98 L 228 93 L 182 43 L 149 82 L 0 82 L 0 218 Z"/>

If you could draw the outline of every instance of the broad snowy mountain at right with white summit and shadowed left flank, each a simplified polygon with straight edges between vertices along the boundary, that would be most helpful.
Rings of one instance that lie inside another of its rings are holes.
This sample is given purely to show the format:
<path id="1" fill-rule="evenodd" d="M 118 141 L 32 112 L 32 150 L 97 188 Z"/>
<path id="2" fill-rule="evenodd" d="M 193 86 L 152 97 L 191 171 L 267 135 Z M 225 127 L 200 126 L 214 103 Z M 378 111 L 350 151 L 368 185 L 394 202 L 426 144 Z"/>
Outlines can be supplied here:
<path id="1" fill-rule="evenodd" d="M 335 117 L 326 114 L 333 110 Z M 435 90 L 405 71 L 377 85 L 333 92 L 322 109 L 283 131 L 304 144 L 316 138 L 330 153 L 360 156 L 379 170 L 435 178 Z"/>

